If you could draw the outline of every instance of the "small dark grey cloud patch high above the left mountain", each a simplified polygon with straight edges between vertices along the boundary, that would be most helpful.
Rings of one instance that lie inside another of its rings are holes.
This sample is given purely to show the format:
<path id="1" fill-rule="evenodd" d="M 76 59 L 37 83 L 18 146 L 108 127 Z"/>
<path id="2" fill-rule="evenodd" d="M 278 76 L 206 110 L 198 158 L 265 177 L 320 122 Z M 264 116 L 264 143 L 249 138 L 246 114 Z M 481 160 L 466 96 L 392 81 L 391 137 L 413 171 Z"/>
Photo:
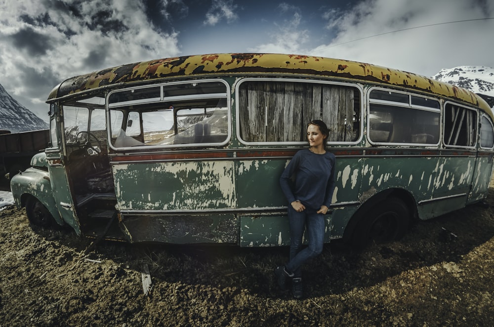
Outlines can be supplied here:
<path id="1" fill-rule="evenodd" d="M 31 27 L 20 29 L 10 35 L 9 39 L 16 48 L 27 51 L 30 56 L 45 55 L 46 51 L 53 49 L 53 40 Z"/>

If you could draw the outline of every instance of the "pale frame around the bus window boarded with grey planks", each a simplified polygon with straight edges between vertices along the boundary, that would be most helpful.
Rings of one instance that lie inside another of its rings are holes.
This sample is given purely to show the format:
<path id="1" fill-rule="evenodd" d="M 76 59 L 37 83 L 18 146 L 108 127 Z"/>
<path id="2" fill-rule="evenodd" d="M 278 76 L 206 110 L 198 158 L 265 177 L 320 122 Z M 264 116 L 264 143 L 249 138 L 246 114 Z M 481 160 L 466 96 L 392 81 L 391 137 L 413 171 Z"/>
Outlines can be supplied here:
<path id="1" fill-rule="evenodd" d="M 259 81 L 266 81 L 266 82 L 295 82 L 295 83 L 311 83 L 311 84 L 329 84 L 329 85 L 338 85 L 338 86 L 349 86 L 356 88 L 360 92 L 360 133 L 359 137 L 355 141 L 349 141 L 349 142 L 338 142 L 338 141 L 332 141 L 332 142 L 326 142 L 328 145 L 338 145 L 338 144 L 344 144 L 344 145 L 355 145 L 359 144 L 362 142 L 364 132 L 364 89 L 360 83 L 349 83 L 349 82 L 334 82 L 334 81 L 321 81 L 321 80 L 303 80 L 303 79 L 294 79 L 294 78 L 272 78 L 272 77 L 247 77 L 247 78 L 242 78 L 235 83 L 235 117 L 236 119 L 236 136 L 237 140 L 239 141 L 240 144 L 247 145 L 247 146 L 273 146 L 273 145 L 288 145 L 288 146 L 300 146 L 300 145 L 305 145 L 307 144 L 307 141 L 296 141 L 296 142 L 281 142 L 281 141 L 267 141 L 267 142 L 247 142 L 244 139 L 242 139 L 240 135 L 240 85 L 244 82 L 259 82 Z M 309 123 L 309 122 L 306 122 Z M 306 124 L 304 123 L 304 124 Z"/>

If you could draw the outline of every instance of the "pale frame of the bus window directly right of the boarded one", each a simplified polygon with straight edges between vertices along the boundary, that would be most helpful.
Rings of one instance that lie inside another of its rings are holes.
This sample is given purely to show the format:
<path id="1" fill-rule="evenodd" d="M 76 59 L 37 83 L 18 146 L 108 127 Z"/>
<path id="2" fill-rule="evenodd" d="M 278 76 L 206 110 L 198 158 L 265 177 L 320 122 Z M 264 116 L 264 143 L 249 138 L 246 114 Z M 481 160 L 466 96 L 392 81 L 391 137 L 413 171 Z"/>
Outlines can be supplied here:
<path id="1" fill-rule="evenodd" d="M 396 101 L 385 101 L 385 100 L 379 100 L 379 99 L 372 99 L 371 98 L 371 92 L 373 90 L 379 90 L 379 91 L 387 91 L 387 92 L 394 92 L 394 93 L 400 93 L 400 94 L 406 94 L 408 95 L 408 103 L 406 102 L 396 102 Z M 391 88 L 386 88 L 386 87 L 379 87 L 379 86 L 374 86 L 370 87 L 367 90 L 367 128 L 366 128 L 366 133 L 367 133 L 367 140 L 371 145 L 392 145 L 392 146 L 420 146 L 420 147 L 437 147 L 441 144 L 442 142 L 442 116 L 443 116 L 443 111 L 442 111 L 442 106 L 441 106 L 441 101 L 437 98 L 430 97 L 430 96 L 425 96 L 419 93 L 414 93 L 410 91 L 400 91 L 400 90 L 395 90 Z M 419 106 L 419 105 L 412 105 L 412 96 L 414 97 L 420 97 L 420 98 L 425 98 L 425 99 L 430 99 L 433 101 L 436 101 L 439 103 L 439 108 L 432 108 L 432 107 L 425 107 L 425 106 Z M 433 113 L 439 113 L 439 122 L 438 122 L 438 142 L 436 143 L 396 143 L 396 142 L 375 142 L 371 140 L 371 124 L 369 122 L 369 117 L 371 115 L 371 104 L 379 104 L 379 105 L 386 105 L 390 107 L 401 107 L 401 108 L 408 108 L 412 110 L 421 110 L 421 111 L 428 111 L 428 112 L 433 112 Z"/>

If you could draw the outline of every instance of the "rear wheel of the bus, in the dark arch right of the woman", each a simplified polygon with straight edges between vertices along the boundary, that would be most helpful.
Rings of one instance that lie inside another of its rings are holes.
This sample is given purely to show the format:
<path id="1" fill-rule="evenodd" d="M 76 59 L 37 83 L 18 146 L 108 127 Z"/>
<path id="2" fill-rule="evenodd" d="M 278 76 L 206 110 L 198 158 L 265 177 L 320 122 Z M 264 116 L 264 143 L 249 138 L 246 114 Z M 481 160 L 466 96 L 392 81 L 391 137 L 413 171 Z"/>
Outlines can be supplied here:
<path id="1" fill-rule="evenodd" d="M 363 248 L 399 240 L 410 223 L 410 210 L 398 198 L 388 198 L 374 205 L 363 217 L 354 232 L 353 244 Z"/>

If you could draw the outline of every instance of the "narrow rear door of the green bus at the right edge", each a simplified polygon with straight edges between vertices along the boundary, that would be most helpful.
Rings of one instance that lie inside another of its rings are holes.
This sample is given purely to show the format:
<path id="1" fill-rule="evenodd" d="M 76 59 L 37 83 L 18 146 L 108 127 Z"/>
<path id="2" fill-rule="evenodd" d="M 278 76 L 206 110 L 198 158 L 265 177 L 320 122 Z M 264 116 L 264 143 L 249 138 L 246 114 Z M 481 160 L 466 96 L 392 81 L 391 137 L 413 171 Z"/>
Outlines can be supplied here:
<path id="1" fill-rule="evenodd" d="M 494 131 L 493 124 L 486 115 L 480 120 L 480 149 L 475 161 L 472 188 L 468 203 L 474 203 L 487 196 L 493 169 Z"/>

